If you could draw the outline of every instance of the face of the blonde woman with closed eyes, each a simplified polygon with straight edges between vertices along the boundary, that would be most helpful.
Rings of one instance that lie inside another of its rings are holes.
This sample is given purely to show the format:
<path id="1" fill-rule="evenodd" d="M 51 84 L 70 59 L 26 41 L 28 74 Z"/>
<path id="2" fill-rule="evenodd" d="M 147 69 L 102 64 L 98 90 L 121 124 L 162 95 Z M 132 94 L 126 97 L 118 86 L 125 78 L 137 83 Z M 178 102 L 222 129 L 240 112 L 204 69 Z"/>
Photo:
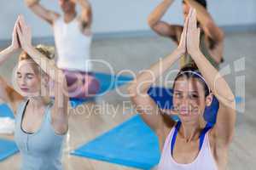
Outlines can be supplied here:
<path id="1" fill-rule="evenodd" d="M 23 96 L 36 97 L 40 94 L 41 78 L 37 67 L 31 59 L 24 59 L 19 62 L 16 82 Z"/>

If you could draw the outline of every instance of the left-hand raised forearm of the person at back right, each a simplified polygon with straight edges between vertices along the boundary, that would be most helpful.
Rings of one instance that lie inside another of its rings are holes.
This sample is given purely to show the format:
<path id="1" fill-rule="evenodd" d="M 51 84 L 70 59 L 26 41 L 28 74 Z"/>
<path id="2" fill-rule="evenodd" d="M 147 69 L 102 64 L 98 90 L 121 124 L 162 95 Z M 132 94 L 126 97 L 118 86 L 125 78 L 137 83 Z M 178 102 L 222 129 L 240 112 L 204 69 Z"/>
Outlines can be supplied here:
<path id="1" fill-rule="evenodd" d="M 154 11 L 148 16 L 148 24 L 153 26 L 156 22 L 160 21 L 161 18 L 166 14 L 166 11 L 172 5 L 174 0 L 164 0 L 160 3 Z"/>

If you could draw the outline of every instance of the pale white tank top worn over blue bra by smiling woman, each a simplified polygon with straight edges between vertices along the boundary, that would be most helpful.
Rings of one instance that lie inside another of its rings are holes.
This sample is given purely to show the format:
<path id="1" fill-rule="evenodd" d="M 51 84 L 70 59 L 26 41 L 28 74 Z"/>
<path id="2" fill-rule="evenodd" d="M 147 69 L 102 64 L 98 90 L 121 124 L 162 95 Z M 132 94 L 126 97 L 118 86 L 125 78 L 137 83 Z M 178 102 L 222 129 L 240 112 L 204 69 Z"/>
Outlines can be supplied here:
<path id="1" fill-rule="evenodd" d="M 172 128 L 171 133 L 169 133 L 164 148 L 162 150 L 160 163 L 158 165 L 158 170 L 218 170 L 215 160 L 212 156 L 210 143 L 209 143 L 209 131 L 206 133 L 203 144 L 201 146 L 201 150 L 199 151 L 198 156 L 195 160 L 189 164 L 180 164 L 177 163 L 172 157 L 171 152 L 171 142 L 173 138 L 173 134 L 175 131 L 175 127 Z"/>

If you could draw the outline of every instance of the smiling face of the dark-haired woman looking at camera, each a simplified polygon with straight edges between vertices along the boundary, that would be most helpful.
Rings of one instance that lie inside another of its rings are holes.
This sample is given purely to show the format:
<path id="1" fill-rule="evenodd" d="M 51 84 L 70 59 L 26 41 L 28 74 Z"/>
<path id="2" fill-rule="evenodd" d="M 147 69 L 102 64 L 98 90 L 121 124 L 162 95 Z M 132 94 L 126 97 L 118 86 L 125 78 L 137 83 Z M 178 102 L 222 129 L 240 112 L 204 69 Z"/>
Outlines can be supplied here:
<path id="1" fill-rule="evenodd" d="M 208 98 L 208 97 L 207 97 Z M 173 107 L 183 122 L 197 122 L 203 116 L 211 99 L 205 97 L 205 89 L 197 78 L 180 77 L 173 89 Z"/>

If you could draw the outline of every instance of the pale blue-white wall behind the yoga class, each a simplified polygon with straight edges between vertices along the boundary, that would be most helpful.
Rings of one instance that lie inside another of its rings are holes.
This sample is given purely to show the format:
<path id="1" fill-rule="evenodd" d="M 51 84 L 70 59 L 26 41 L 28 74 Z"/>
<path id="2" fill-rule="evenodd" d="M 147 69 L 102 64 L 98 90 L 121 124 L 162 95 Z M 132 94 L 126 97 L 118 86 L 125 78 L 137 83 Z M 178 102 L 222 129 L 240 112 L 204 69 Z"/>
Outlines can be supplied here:
<path id="1" fill-rule="evenodd" d="M 147 31 L 147 16 L 160 0 L 90 0 L 96 33 Z M 57 0 L 42 0 L 47 8 L 60 11 Z M 50 26 L 38 20 L 23 0 L 0 0 L 0 40 L 9 39 L 18 14 L 24 14 L 34 37 L 52 35 Z M 208 0 L 209 11 L 219 26 L 256 24 L 255 0 Z M 165 16 L 172 23 L 183 23 L 181 0 L 176 0 Z"/>

